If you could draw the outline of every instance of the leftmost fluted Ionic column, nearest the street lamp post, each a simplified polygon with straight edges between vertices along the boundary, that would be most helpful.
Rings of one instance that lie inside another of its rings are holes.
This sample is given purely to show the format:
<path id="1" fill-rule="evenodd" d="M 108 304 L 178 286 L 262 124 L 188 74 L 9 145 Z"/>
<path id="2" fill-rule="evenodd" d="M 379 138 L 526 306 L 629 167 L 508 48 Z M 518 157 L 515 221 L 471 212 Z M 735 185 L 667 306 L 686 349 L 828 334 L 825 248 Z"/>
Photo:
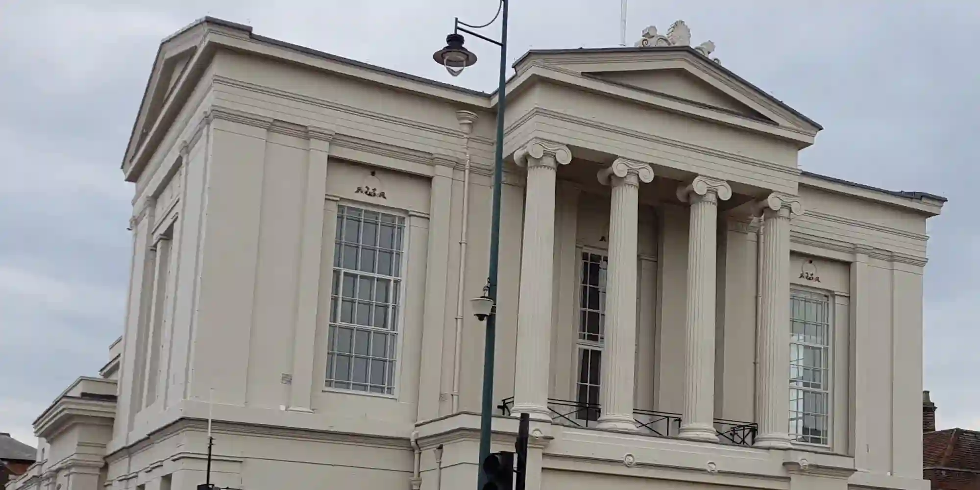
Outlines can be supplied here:
<path id="1" fill-rule="evenodd" d="M 571 162 L 564 145 L 531 139 L 514 154 L 527 167 L 524 236 L 520 257 L 517 347 L 512 413 L 551 421 L 552 284 L 555 260 L 555 173 Z"/>

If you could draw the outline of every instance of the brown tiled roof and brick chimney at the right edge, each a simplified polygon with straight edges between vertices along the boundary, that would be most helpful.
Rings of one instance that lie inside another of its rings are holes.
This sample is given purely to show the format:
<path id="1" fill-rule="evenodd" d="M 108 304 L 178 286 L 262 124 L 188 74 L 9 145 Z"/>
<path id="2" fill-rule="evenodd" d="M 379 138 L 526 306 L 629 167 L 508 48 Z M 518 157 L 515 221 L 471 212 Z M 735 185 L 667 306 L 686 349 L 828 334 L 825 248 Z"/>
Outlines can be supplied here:
<path id="1" fill-rule="evenodd" d="M 922 392 L 922 477 L 932 488 L 980 490 L 980 431 L 936 430 L 936 404 Z"/>

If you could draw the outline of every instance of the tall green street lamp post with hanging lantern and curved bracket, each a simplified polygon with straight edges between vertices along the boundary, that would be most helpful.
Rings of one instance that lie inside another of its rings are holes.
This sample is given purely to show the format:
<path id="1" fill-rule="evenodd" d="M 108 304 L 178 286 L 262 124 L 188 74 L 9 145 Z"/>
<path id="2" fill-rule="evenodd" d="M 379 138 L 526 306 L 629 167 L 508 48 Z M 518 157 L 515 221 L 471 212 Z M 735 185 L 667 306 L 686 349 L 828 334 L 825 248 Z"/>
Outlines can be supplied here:
<path id="1" fill-rule="evenodd" d="M 463 72 L 468 66 L 476 63 L 476 55 L 463 47 L 463 34 L 460 31 L 472 34 L 480 39 L 500 46 L 500 80 L 497 87 L 497 149 L 494 154 L 493 171 L 493 218 L 490 224 L 490 267 L 487 273 L 486 293 L 482 298 L 474 300 L 475 307 L 489 306 L 486 312 L 477 312 L 477 316 L 485 314 L 486 336 L 483 346 L 483 400 L 480 410 L 480 455 L 479 462 L 482 463 L 490 454 L 490 426 L 493 419 L 493 370 L 494 370 L 494 347 L 497 336 L 497 269 L 500 258 L 500 193 L 501 181 L 504 177 L 504 108 L 507 83 L 507 8 L 509 0 L 500 0 L 497 15 L 487 24 L 468 25 L 460 22 L 456 18 L 453 26 L 453 33 L 446 36 L 446 47 L 436 51 L 432 58 L 446 67 L 446 70 L 453 76 Z M 470 28 L 482 28 L 493 24 L 498 17 L 501 19 L 500 41 L 495 41 L 489 37 L 473 32 Z M 463 287 L 461 284 L 460 287 Z M 489 301 L 487 301 L 489 300 Z M 483 487 L 485 474 L 481 468 L 477 489 Z"/>

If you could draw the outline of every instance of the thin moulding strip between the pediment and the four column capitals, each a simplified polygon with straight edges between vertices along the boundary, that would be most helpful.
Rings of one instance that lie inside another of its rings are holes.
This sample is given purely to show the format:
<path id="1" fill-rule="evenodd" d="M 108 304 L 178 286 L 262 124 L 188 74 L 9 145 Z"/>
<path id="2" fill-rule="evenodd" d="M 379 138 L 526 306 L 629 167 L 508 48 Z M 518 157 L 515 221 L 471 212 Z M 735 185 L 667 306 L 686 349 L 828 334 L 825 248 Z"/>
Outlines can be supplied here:
<path id="1" fill-rule="evenodd" d="M 715 157 L 723 160 L 729 160 L 732 162 L 738 162 L 741 164 L 750 165 L 753 167 L 758 167 L 760 169 L 765 169 L 767 171 L 786 173 L 787 175 L 790 175 L 793 179 L 799 178 L 801 173 L 800 169 L 797 168 L 787 167 L 772 162 L 766 162 L 764 160 L 753 159 L 735 153 L 722 152 L 706 146 L 700 146 L 691 143 L 685 143 L 683 141 L 678 141 L 675 139 L 664 138 L 662 136 L 636 131 L 633 129 L 629 129 L 626 127 L 622 127 L 610 123 L 601 123 L 594 120 L 578 118 L 576 116 L 571 116 L 568 114 L 560 113 L 558 111 L 553 111 L 551 109 L 544 109 L 540 107 L 535 107 L 531 109 L 526 114 L 524 114 L 519 119 L 517 119 L 514 123 L 511 123 L 511 125 L 509 125 L 506 129 L 505 135 L 510 135 L 515 129 L 519 128 L 522 124 L 527 123 L 529 120 L 537 116 L 552 118 L 558 121 L 564 121 L 565 123 L 581 124 L 587 127 L 593 127 L 595 129 L 600 129 L 604 131 L 611 131 L 617 134 L 635 137 L 652 143 L 659 143 L 665 146 L 670 146 L 681 150 L 692 151 L 710 157 Z M 787 176 L 786 178 L 791 178 L 790 176 Z"/>

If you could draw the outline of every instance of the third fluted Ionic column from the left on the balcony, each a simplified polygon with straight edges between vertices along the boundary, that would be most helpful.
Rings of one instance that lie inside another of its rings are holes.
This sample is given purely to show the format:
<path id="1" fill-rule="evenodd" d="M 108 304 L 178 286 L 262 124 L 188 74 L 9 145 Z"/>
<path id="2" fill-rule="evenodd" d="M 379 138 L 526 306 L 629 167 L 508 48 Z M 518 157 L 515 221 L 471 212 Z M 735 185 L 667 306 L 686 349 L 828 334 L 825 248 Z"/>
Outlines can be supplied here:
<path id="1" fill-rule="evenodd" d="M 677 189 L 691 204 L 687 248 L 687 320 L 684 328 L 684 412 L 679 437 L 717 441 L 714 430 L 714 303 L 718 200 L 732 196 L 728 182 L 698 176 Z"/>

